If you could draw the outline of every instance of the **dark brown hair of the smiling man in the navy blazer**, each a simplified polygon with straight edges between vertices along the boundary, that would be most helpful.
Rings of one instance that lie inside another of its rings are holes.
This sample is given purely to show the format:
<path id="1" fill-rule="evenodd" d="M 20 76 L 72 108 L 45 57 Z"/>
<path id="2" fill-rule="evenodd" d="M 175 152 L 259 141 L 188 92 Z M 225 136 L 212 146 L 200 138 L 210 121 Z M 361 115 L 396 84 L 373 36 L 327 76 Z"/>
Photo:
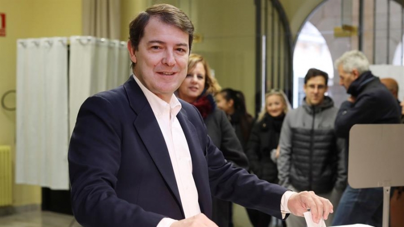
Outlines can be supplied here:
<path id="1" fill-rule="evenodd" d="M 144 35 L 144 28 L 151 17 L 157 17 L 162 22 L 173 25 L 182 31 L 189 34 L 189 52 L 191 52 L 194 27 L 189 20 L 188 16 L 180 9 L 168 5 L 157 4 L 147 8 L 145 12 L 141 12 L 137 17 L 129 24 L 129 40 L 132 48 L 137 50 L 140 39 Z M 132 63 L 132 68 L 135 64 Z"/>

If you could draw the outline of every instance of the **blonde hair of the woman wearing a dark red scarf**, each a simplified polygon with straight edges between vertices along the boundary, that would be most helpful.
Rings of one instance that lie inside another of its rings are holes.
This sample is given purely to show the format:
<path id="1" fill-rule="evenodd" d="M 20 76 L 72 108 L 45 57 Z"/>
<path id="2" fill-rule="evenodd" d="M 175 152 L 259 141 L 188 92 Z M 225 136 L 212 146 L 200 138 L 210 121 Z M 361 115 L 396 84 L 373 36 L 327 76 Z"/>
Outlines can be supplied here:
<path id="1" fill-rule="evenodd" d="M 219 91 L 222 89 L 217 82 L 217 80 L 212 76 L 212 71 L 211 68 L 208 65 L 208 62 L 204 59 L 203 56 L 196 54 L 196 53 L 191 53 L 189 54 L 189 59 L 188 59 L 188 72 L 193 70 L 196 66 L 196 64 L 202 63 L 205 68 L 205 89 L 207 94 L 212 94 L 215 96 Z"/>

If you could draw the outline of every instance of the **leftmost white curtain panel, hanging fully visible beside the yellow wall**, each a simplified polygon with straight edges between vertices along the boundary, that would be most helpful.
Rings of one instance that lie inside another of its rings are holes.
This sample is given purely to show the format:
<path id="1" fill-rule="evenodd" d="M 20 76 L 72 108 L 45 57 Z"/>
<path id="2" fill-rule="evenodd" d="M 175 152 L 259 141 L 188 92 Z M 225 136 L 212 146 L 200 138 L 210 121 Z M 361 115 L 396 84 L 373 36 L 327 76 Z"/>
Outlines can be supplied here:
<path id="1" fill-rule="evenodd" d="M 67 38 L 17 40 L 16 183 L 69 189 Z"/>

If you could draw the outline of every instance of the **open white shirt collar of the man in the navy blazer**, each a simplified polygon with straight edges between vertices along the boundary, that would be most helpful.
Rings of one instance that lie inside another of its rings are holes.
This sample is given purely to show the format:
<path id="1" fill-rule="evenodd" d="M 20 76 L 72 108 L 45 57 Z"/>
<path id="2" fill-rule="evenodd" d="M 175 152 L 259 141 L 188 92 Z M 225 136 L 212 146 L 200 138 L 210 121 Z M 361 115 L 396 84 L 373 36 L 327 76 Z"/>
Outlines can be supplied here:
<path id="1" fill-rule="evenodd" d="M 166 109 L 169 109 L 170 111 L 170 119 L 177 116 L 182 106 L 174 94 L 171 96 L 170 103 L 167 103 L 163 99 L 159 98 L 156 94 L 148 90 L 134 74 L 132 76 L 139 85 L 140 89 L 143 91 L 144 96 L 146 96 L 146 99 L 156 117 L 162 116 Z"/>

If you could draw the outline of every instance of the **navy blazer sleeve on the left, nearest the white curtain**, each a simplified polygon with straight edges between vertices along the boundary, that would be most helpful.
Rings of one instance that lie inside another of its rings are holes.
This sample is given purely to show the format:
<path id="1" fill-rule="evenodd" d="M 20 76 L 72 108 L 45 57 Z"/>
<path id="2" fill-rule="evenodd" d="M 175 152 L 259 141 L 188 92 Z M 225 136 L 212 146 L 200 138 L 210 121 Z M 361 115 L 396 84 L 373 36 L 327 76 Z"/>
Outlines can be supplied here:
<path id="1" fill-rule="evenodd" d="M 101 96 L 81 106 L 68 153 L 72 209 L 83 226 L 157 226 L 163 215 L 117 197 L 119 109 Z"/>

